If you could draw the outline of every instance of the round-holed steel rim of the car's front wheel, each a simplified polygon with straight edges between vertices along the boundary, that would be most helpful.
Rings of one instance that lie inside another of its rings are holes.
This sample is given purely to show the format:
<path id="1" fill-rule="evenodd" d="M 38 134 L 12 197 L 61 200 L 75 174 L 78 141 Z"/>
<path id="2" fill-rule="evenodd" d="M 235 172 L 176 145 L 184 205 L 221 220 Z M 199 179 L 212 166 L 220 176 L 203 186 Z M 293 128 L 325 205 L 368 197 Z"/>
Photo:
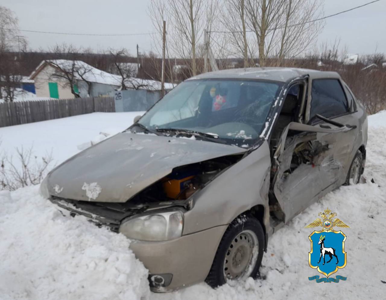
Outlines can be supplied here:
<path id="1" fill-rule="evenodd" d="M 226 280 L 248 278 L 256 264 L 259 249 L 257 236 L 253 231 L 244 230 L 230 243 L 224 259 Z"/>

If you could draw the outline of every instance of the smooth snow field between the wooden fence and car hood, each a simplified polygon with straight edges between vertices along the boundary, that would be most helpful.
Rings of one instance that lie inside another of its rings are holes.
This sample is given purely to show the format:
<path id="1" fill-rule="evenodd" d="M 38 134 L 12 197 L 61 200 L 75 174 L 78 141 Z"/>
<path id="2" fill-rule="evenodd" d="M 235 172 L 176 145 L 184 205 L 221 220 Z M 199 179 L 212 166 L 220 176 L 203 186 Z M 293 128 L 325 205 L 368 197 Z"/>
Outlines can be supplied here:
<path id="1" fill-rule="evenodd" d="M 133 124 L 134 117 L 143 112 L 95 112 L 74 117 L 0 127 L 0 157 L 12 155 L 15 148 L 33 148 L 36 156 L 52 153 L 54 164 Z M 101 134 L 102 132 L 102 134 Z M 53 165 L 54 165 L 53 164 Z"/>

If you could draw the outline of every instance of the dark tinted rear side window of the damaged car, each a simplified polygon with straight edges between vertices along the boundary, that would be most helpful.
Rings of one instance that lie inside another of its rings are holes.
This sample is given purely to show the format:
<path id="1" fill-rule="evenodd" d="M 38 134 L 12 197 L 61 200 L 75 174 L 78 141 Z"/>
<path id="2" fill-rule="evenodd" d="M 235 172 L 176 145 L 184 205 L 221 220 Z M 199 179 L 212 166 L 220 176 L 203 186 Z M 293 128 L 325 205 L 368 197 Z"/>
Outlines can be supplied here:
<path id="1" fill-rule="evenodd" d="M 315 79 L 312 81 L 310 120 L 316 114 L 331 118 L 347 112 L 349 107 L 339 80 Z"/>

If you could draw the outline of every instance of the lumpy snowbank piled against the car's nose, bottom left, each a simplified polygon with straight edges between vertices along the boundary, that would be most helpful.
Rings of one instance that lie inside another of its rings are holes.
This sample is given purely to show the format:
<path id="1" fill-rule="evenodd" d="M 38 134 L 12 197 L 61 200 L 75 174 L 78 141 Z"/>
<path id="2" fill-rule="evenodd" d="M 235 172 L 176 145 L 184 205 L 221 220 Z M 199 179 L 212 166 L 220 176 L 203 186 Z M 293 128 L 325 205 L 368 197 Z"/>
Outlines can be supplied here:
<path id="1" fill-rule="evenodd" d="M 147 270 L 121 234 L 64 217 L 38 187 L 0 192 L 0 299 L 147 298 Z"/>

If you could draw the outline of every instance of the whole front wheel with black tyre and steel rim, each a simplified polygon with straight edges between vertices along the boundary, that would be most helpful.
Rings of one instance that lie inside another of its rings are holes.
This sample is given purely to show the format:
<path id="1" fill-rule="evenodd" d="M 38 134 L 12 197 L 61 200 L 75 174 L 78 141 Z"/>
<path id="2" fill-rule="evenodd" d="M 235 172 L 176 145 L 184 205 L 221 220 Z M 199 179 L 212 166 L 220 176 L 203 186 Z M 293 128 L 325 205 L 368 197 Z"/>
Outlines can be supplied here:
<path id="1" fill-rule="evenodd" d="M 240 215 L 225 231 L 205 281 L 215 288 L 226 283 L 228 278 L 256 278 L 263 249 L 264 231 L 260 222 L 251 214 Z"/>

